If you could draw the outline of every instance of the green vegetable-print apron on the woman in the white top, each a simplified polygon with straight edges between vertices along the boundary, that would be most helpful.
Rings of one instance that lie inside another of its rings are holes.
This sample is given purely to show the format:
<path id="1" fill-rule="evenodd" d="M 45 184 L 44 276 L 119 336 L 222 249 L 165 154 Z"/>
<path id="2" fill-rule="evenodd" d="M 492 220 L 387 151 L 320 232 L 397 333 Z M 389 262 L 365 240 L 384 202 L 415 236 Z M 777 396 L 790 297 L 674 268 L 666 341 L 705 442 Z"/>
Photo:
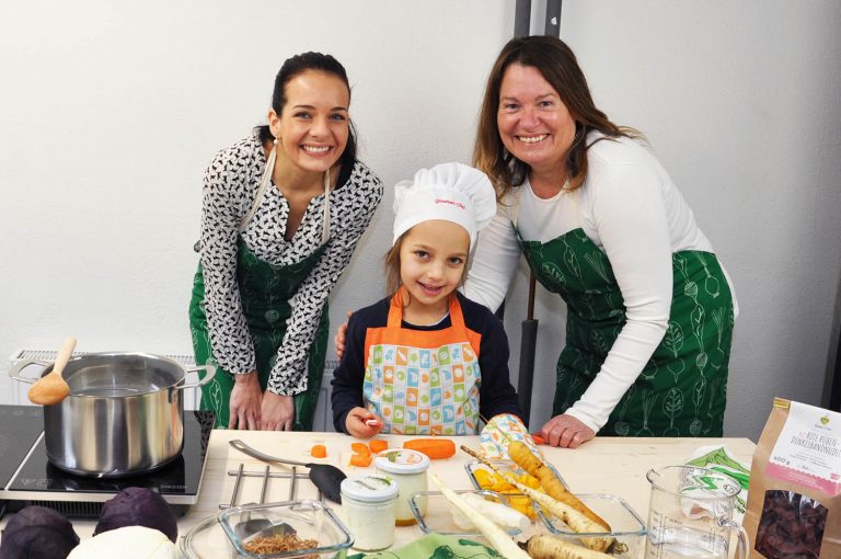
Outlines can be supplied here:
<path id="1" fill-rule="evenodd" d="M 557 361 L 552 415 L 587 390 L 625 324 L 625 305 L 608 256 L 584 229 L 546 243 L 518 243 L 537 280 L 567 306 L 566 345 Z M 669 326 L 599 435 L 722 436 L 733 297 L 715 254 L 671 256 Z"/>

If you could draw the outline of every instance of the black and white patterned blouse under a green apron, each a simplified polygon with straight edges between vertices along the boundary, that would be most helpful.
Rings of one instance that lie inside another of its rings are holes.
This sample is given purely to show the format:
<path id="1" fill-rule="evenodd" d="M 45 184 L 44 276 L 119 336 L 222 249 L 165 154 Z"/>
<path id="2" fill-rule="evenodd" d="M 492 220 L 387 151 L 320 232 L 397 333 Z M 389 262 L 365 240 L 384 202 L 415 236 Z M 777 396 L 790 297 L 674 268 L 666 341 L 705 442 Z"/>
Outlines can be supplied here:
<path id="1" fill-rule="evenodd" d="M 256 136 L 217 153 L 205 171 L 201 209 L 201 266 L 205 312 L 219 365 L 232 374 L 255 370 L 251 341 L 237 284 L 239 225 L 254 203 L 266 158 Z M 382 183 L 361 162 L 330 194 L 330 246 L 292 296 L 292 312 L 272 368 L 268 389 L 292 396 L 307 389 L 307 357 L 321 311 L 333 286 L 350 262 L 359 237 L 382 198 Z M 310 201 L 291 241 L 286 240 L 289 205 L 277 187 L 268 187 L 256 214 L 242 232 L 247 248 L 276 265 L 300 262 L 320 244 L 324 195 Z"/>

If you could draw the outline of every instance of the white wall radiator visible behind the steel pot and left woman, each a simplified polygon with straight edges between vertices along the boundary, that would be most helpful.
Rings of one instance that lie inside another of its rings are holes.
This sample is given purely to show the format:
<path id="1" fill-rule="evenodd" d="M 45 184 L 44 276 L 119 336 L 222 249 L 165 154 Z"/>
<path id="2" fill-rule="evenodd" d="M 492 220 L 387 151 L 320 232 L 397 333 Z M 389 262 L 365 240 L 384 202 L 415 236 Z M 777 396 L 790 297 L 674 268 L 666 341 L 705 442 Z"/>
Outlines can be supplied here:
<path id="1" fill-rule="evenodd" d="M 92 352 L 73 352 L 73 357 L 79 355 L 87 355 L 88 353 Z M 155 354 L 158 355 L 158 354 Z M 46 361 L 46 362 L 53 362 L 58 356 L 58 352 L 56 350 L 19 350 L 12 354 L 10 357 L 10 366 L 14 367 L 19 363 L 22 363 L 24 361 Z M 196 366 L 196 360 L 193 357 L 193 355 L 161 355 L 161 357 L 168 357 L 170 360 L 173 360 L 185 367 L 195 367 Z M 315 417 L 313 419 L 312 430 L 313 431 L 335 431 L 333 429 L 333 411 L 330 404 L 330 395 L 333 391 L 332 387 L 330 386 L 331 380 L 333 380 L 333 369 L 338 366 L 337 361 L 327 361 L 324 364 L 324 378 L 321 381 L 321 390 L 319 391 L 319 403 L 315 407 Z M 36 368 L 38 366 L 33 365 L 32 367 L 25 367 L 21 373 L 23 376 L 27 376 L 30 378 L 35 378 L 35 376 L 38 374 L 37 370 L 28 370 L 30 368 Z M 15 406 L 23 406 L 28 404 L 30 400 L 26 398 L 26 392 L 30 389 L 28 384 L 24 383 L 18 383 L 12 381 L 13 389 L 11 390 L 12 395 L 12 401 L 10 403 L 13 403 Z M 197 410 L 198 403 L 199 403 L 200 395 L 198 389 L 193 390 L 184 390 L 184 409 L 185 410 Z"/>

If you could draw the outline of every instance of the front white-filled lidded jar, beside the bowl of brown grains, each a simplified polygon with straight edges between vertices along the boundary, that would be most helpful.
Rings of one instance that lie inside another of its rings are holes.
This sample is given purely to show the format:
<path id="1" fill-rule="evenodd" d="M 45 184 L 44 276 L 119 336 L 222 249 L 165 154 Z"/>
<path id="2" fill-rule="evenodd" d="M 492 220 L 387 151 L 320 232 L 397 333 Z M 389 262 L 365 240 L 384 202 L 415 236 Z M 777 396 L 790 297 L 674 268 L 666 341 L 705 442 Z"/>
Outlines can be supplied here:
<path id="1" fill-rule="evenodd" d="M 398 483 L 384 476 L 356 476 L 342 480 L 342 511 L 354 535 L 354 547 L 377 551 L 394 544 L 394 503 Z"/>

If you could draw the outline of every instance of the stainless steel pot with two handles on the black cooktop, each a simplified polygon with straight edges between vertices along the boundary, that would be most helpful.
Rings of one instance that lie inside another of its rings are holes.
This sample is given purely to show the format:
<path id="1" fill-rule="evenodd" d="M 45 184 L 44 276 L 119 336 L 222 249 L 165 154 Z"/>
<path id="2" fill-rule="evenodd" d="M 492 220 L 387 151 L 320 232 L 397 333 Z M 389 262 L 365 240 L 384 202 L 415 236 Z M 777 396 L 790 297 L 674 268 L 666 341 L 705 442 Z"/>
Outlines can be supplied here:
<path id="1" fill-rule="evenodd" d="M 53 364 L 18 363 L 9 376 L 22 383 L 35 378 L 21 372 Z M 186 375 L 205 370 L 197 383 Z M 184 446 L 182 391 L 210 381 L 216 367 L 186 368 L 148 353 L 92 353 L 73 357 L 62 376 L 70 396 L 44 407 L 47 458 L 56 467 L 82 476 L 124 477 L 143 474 L 176 458 Z"/>

